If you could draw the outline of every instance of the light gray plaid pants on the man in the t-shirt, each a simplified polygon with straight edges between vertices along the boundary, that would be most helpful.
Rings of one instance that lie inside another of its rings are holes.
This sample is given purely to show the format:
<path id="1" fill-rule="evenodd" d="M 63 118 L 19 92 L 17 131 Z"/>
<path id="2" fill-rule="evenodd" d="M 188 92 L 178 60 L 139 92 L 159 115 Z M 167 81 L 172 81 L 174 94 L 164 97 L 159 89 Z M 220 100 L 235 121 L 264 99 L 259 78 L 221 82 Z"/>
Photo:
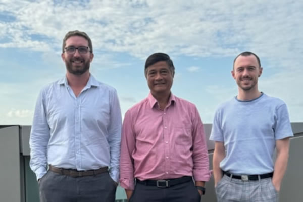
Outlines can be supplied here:
<path id="1" fill-rule="evenodd" d="M 272 178 L 256 181 L 242 181 L 226 175 L 215 187 L 218 202 L 249 201 L 277 202 L 278 192 L 272 184 Z"/>

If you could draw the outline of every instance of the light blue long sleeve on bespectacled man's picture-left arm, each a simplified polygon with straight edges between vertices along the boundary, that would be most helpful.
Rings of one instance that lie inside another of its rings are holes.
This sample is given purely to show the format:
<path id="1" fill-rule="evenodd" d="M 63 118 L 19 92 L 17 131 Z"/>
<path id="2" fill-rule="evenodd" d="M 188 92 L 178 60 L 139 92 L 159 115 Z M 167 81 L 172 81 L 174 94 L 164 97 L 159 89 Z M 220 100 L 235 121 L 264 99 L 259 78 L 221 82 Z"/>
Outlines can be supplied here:
<path id="1" fill-rule="evenodd" d="M 38 96 L 29 139 L 30 168 L 36 174 L 37 180 L 46 173 L 47 144 L 50 138 L 45 110 L 45 94 L 45 91 L 42 89 Z"/>

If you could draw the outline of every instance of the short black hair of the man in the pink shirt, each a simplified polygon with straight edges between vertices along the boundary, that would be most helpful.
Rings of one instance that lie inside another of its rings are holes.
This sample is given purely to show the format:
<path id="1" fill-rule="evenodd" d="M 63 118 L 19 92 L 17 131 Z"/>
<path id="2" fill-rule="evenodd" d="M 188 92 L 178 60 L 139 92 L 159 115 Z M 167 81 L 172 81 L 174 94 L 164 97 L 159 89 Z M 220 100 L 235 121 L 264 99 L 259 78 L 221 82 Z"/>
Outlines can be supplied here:
<path id="1" fill-rule="evenodd" d="M 145 77 L 147 76 L 147 68 L 150 65 L 154 65 L 155 63 L 160 62 L 160 61 L 165 61 L 166 64 L 168 65 L 172 75 L 173 76 L 175 75 L 174 63 L 170 59 L 169 55 L 167 55 L 165 53 L 154 53 L 154 54 L 151 54 L 150 56 L 148 56 L 148 58 L 146 59 L 145 68 L 144 68 Z"/>

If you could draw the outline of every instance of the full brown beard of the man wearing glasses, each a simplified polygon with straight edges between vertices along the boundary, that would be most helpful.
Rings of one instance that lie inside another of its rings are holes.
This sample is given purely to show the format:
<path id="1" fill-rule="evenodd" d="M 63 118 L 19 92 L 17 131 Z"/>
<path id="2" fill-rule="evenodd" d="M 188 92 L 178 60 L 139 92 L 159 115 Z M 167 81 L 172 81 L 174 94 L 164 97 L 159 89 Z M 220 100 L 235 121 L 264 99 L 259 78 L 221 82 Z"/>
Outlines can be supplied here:
<path id="1" fill-rule="evenodd" d="M 73 61 L 75 61 L 75 60 L 81 60 L 83 62 L 79 63 L 79 64 L 78 63 L 73 63 Z M 79 75 L 82 75 L 86 71 L 89 70 L 90 62 L 85 61 L 81 57 L 74 57 L 74 58 L 71 58 L 68 61 L 65 61 L 65 66 L 66 66 L 66 69 L 69 73 L 79 76 Z"/>

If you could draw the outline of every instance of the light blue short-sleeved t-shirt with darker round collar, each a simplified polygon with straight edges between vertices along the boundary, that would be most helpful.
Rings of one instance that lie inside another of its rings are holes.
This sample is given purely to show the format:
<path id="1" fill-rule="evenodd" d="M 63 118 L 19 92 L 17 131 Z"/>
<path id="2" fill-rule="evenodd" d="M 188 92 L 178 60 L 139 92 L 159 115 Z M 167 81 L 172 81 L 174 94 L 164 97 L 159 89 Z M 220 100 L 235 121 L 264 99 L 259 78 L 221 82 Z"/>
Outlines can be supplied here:
<path id="1" fill-rule="evenodd" d="M 276 140 L 293 136 L 286 104 L 266 94 L 254 100 L 236 97 L 216 111 L 210 140 L 224 142 L 220 168 L 233 174 L 264 174 L 274 170 Z"/>

